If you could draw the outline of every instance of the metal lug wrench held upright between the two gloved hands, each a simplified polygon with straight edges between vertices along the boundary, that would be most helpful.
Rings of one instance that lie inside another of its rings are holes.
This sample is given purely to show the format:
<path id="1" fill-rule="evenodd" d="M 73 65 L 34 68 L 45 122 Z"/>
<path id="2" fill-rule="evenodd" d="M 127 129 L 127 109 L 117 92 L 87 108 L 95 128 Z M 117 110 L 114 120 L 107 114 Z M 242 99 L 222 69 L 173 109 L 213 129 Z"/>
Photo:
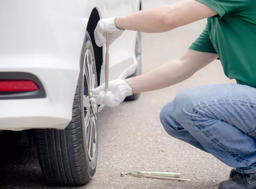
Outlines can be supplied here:
<path id="1" fill-rule="evenodd" d="M 110 34 L 106 34 L 106 54 L 105 54 L 105 92 L 107 93 L 109 91 L 109 70 L 110 70 L 110 54 L 109 54 L 109 48 L 110 48 Z M 90 92 L 90 98 L 97 98 L 98 94 L 92 94 Z"/>

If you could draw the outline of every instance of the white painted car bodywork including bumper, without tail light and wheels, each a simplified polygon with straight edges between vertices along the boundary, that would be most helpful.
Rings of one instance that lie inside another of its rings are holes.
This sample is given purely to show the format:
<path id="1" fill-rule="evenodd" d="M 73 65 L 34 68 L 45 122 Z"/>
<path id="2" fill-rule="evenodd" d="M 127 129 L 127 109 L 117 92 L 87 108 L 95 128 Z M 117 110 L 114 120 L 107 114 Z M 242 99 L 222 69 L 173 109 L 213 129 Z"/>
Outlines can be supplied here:
<path id="1" fill-rule="evenodd" d="M 0 72 L 31 73 L 46 91 L 45 99 L 0 100 L 0 130 L 64 129 L 68 125 L 82 43 L 94 8 L 101 18 L 116 17 L 138 11 L 139 0 L 0 2 Z M 110 46 L 110 80 L 135 71 L 135 42 L 136 32 L 125 31 Z M 101 84 L 104 68 L 103 64 Z"/>

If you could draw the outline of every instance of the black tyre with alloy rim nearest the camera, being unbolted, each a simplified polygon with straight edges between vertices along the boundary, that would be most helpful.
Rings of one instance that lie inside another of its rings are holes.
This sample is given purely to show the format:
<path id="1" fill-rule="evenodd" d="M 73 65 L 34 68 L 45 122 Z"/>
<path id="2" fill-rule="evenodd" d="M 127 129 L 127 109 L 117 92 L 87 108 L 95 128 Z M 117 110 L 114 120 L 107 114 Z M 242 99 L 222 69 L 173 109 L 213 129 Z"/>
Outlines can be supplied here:
<path id="1" fill-rule="evenodd" d="M 98 107 L 91 105 L 88 100 L 90 90 L 95 87 L 95 57 L 90 35 L 86 32 L 72 120 L 64 130 L 37 130 L 39 163 L 50 184 L 83 185 L 95 173 L 98 155 Z"/>

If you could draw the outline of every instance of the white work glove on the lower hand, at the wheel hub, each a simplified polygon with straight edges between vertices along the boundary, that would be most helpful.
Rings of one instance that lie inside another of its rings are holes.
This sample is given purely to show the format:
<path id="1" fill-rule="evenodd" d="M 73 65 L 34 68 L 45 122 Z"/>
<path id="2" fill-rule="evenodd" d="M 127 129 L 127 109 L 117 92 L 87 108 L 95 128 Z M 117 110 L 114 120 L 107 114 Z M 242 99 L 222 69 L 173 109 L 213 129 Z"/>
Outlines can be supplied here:
<path id="1" fill-rule="evenodd" d="M 91 98 L 91 104 L 104 104 L 109 107 L 116 107 L 122 103 L 126 96 L 133 94 L 131 86 L 123 79 L 109 82 L 109 91 L 105 92 L 105 84 L 92 89 L 93 94 L 98 94 L 97 98 Z"/>

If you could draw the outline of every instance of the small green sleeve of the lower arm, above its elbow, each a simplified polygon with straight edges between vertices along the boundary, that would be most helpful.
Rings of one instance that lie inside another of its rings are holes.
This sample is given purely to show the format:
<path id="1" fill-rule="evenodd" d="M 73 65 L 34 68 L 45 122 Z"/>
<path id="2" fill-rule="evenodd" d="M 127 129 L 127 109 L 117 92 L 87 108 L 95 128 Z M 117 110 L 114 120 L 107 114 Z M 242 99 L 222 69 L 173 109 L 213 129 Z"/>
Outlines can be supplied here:
<path id="1" fill-rule="evenodd" d="M 208 33 L 208 24 L 206 25 L 203 32 L 199 35 L 199 37 L 194 41 L 194 43 L 192 43 L 189 49 L 194 51 L 210 52 L 217 54 L 210 41 L 210 36 Z"/>

